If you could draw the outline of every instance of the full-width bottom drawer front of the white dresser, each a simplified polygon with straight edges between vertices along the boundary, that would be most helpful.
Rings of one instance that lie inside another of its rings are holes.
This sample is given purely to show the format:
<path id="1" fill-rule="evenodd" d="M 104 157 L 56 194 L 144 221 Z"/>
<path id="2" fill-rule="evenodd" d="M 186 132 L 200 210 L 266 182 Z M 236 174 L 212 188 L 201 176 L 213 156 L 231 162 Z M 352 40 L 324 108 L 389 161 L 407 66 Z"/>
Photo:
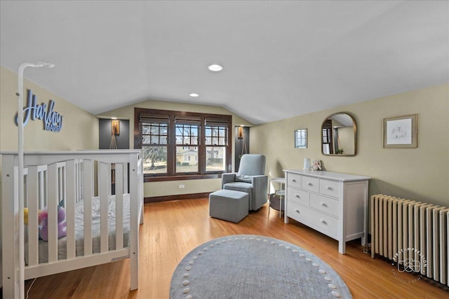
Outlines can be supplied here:
<path id="1" fill-rule="evenodd" d="M 323 214 L 314 209 L 303 207 L 295 202 L 289 202 L 287 206 L 287 216 L 304 223 L 323 234 L 337 239 L 338 237 L 338 219 L 333 216 Z"/>

